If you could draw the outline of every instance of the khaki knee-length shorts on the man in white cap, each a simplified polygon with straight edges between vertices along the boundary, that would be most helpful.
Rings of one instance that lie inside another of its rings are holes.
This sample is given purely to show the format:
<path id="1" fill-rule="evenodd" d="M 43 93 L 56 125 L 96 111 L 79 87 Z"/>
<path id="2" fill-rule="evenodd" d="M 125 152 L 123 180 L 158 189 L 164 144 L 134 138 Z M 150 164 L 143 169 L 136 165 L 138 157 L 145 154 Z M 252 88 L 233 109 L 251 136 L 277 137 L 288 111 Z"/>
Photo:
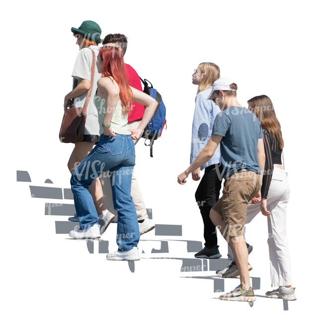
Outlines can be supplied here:
<path id="1" fill-rule="evenodd" d="M 225 180 L 223 195 L 212 207 L 226 223 L 223 236 L 243 236 L 248 202 L 259 190 L 260 175 L 254 171 L 235 173 Z"/>

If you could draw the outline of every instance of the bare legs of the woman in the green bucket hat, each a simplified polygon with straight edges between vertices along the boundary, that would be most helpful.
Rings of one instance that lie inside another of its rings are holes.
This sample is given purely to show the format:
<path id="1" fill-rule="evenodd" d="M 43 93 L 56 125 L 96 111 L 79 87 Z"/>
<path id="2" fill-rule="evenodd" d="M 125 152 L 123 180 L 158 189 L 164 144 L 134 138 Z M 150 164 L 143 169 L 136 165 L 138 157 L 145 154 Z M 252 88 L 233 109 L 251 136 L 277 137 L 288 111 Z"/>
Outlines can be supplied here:
<path id="1" fill-rule="evenodd" d="M 80 162 L 90 153 L 93 148 L 93 143 L 79 142 L 75 143 L 75 147 L 68 162 L 68 167 L 71 172 L 80 164 Z M 88 187 L 94 201 L 95 209 L 98 215 L 106 211 L 106 206 L 103 198 L 103 192 L 100 180 L 96 178 Z"/>

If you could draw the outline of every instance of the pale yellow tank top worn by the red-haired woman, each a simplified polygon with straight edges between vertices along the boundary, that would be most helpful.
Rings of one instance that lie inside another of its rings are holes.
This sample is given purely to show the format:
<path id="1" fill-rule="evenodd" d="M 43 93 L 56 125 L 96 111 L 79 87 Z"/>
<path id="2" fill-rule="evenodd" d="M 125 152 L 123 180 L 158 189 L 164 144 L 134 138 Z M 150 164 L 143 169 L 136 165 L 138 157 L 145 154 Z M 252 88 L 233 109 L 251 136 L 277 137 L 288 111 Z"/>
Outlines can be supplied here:
<path id="1" fill-rule="evenodd" d="M 105 108 L 106 108 L 106 99 L 98 96 L 95 93 L 94 96 L 94 105 L 97 109 L 98 120 L 100 125 L 100 135 L 103 134 L 102 122 L 104 119 Z M 117 106 L 114 110 L 112 120 L 111 120 L 111 129 L 117 134 L 120 135 L 131 135 L 131 132 L 128 130 L 128 113 L 122 111 L 122 102 L 118 99 Z"/>

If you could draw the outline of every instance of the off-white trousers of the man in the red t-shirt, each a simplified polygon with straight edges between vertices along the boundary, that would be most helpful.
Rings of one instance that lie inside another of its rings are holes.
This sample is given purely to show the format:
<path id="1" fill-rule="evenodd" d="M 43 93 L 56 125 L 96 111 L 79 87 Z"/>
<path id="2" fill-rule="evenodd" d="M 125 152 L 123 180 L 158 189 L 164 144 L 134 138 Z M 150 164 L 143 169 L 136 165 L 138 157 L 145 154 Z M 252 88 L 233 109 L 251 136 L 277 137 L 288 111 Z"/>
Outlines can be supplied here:
<path id="1" fill-rule="evenodd" d="M 139 123 L 140 121 L 134 121 L 129 123 L 128 124 L 129 129 L 137 129 Z M 137 141 L 134 140 L 135 144 L 137 142 L 138 140 Z M 107 176 L 107 173 L 103 174 L 102 178 L 100 178 L 100 182 L 102 185 L 102 191 L 103 191 L 106 208 L 108 209 L 108 211 L 110 211 L 115 216 L 117 216 L 118 212 L 113 207 L 111 183 L 110 183 L 110 178 Z M 132 173 L 132 179 L 131 179 L 131 197 L 136 208 L 138 221 L 148 219 L 146 205 L 145 205 L 143 196 L 141 195 L 137 178 L 135 176 L 135 169 Z"/>

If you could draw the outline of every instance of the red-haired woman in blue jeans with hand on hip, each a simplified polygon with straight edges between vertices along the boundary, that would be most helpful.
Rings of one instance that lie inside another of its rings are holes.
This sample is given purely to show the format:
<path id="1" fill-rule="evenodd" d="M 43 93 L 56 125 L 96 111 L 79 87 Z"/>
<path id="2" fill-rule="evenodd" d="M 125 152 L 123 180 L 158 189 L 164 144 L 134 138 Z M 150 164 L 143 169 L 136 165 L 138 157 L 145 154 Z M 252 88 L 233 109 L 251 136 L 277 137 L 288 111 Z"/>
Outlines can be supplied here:
<path id="1" fill-rule="evenodd" d="M 76 239 L 100 238 L 100 227 L 88 186 L 109 170 L 113 205 L 118 211 L 116 252 L 108 253 L 110 260 L 139 260 L 139 226 L 135 206 L 130 195 L 131 178 L 135 165 L 135 146 L 153 116 L 157 101 L 130 87 L 126 79 L 121 49 L 101 47 L 97 69 L 102 78 L 97 81 L 95 105 L 98 109 L 100 140 L 79 164 L 71 177 L 75 208 L 80 229 L 70 232 Z M 132 100 L 146 106 L 144 116 L 135 130 L 128 130 L 128 113 Z M 106 226 L 114 215 L 105 219 Z"/>

